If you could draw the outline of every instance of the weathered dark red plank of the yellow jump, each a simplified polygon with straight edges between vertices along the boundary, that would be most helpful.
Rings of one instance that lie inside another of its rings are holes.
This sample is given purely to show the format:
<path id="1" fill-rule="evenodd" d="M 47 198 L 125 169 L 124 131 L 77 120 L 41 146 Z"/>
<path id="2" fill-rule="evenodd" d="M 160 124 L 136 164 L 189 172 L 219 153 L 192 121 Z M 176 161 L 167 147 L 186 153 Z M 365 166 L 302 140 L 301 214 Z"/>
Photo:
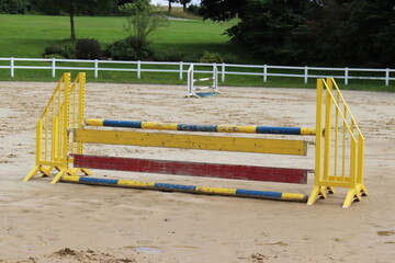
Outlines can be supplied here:
<path id="1" fill-rule="evenodd" d="M 72 155 L 78 168 L 174 175 L 252 180 L 278 183 L 307 183 L 306 169 L 232 165 L 121 157 Z"/>

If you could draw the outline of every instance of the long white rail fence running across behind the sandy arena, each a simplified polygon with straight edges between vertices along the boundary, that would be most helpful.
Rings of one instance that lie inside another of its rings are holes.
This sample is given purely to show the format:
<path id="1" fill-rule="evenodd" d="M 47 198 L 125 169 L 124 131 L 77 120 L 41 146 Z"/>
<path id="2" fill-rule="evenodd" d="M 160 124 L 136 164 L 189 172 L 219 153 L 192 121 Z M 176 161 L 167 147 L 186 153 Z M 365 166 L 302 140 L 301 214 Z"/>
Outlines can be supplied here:
<path id="1" fill-rule="evenodd" d="M 21 65 L 22 62 L 23 65 Z M 25 64 L 32 64 L 26 66 Z M 43 64 L 47 62 L 48 66 L 35 65 L 35 62 Z M 61 66 L 61 64 L 84 64 L 81 67 L 70 67 Z M 87 67 L 86 65 L 91 65 Z M 269 77 L 285 77 L 285 78 L 302 78 L 304 83 L 308 82 L 308 79 L 317 78 L 335 78 L 342 79 L 345 84 L 349 83 L 349 80 L 352 79 L 363 79 L 363 80 L 381 80 L 384 81 L 385 85 L 390 84 L 391 80 L 395 80 L 394 77 L 391 77 L 392 72 L 395 72 L 395 69 L 373 69 L 373 68 L 321 68 L 321 67 L 291 67 L 291 66 L 269 66 L 269 65 L 236 65 L 236 64 L 196 64 L 196 62 L 159 62 L 159 61 L 117 61 L 117 60 L 81 60 L 81 59 L 56 59 L 56 58 L 0 58 L 0 70 L 9 69 L 11 78 L 14 78 L 15 70 L 22 69 L 44 69 L 50 70 L 52 77 L 56 77 L 57 70 L 82 70 L 82 71 L 93 71 L 94 78 L 99 77 L 100 71 L 129 71 L 136 72 L 137 78 L 139 79 L 142 72 L 169 72 L 169 73 L 179 73 L 180 80 L 183 78 L 183 73 L 188 72 L 188 66 L 204 66 L 212 67 L 212 70 L 195 70 L 198 73 L 212 73 L 215 67 L 218 67 L 218 75 L 221 75 L 221 80 L 225 81 L 225 77 L 229 75 L 239 75 L 239 76 L 260 76 L 262 81 L 267 82 Z M 115 65 L 124 65 L 123 68 L 114 67 Z M 173 66 L 177 69 L 155 69 L 155 68 L 144 68 L 144 66 Z M 113 66 L 113 67 L 112 67 Z M 132 66 L 132 67 L 131 67 Z M 246 71 L 233 71 L 232 69 L 240 70 L 246 69 Z M 251 69 L 251 71 L 248 71 Z M 253 70 L 252 70 L 253 69 Z M 273 72 L 274 69 L 274 72 Z M 272 70 L 272 71 L 271 71 Z M 279 70 L 284 70 L 285 72 L 278 72 Z M 325 71 L 330 71 L 327 75 L 323 73 Z M 332 72 L 339 72 L 334 75 Z M 356 72 L 365 72 L 365 75 L 371 73 L 375 76 L 358 76 Z"/>

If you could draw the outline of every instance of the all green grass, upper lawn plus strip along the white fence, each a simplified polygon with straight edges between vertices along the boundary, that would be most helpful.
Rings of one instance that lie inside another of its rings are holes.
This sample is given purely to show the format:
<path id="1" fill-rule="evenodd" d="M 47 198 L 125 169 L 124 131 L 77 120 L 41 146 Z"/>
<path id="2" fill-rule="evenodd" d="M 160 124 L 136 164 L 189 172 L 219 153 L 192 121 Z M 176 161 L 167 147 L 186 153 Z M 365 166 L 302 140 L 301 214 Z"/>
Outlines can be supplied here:
<path id="1" fill-rule="evenodd" d="M 104 48 L 105 45 L 126 37 L 126 32 L 123 30 L 125 22 L 125 18 L 119 16 L 77 16 L 76 34 L 78 38 L 95 38 L 102 44 L 102 48 Z M 202 54 L 204 50 L 222 54 L 229 53 L 238 56 L 240 64 L 259 64 L 251 55 L 232 45 L 229 43 L 229 37 L 223 34 L 233 23 L 235 23 L 235 21 L 229 23 L 203 22 L 202 20 L 170 21 L 169 26 L 158 28 L 151 35 L 150 41 L 153 43 L 153 48 L 157 50 L 177 50 L 189 55 Z M 1 14 L 0 57 L 41 58 L 46 46 L 67 42 L 69 35 L 70 25 L 68 16 Z M 0 66 L 3 65 L 8 64 L 5 61 L 0 61 Z M 16 65 L 32 65 L 32 62 L 16 62 Z M 45 62 L 41 62 L 40 65 L 49 66 L 49 64 Z M 79 64 L 67 65 L 82 66 Z M 89 67 L 92 66 L 89 65 Z M 145 68 L 147 66 L 145 66 Z M 171 67 L 169 66 L 166 68 Z M 246 69 L 232 70 L 242 71 Z M 252 69 L 248 70 L 252 71 Z M 261 69 L 257 69 L 257 72 L 261 72 Z M 271 70 L 271 72 L 289 71 Z M 360 75 L 362 73 L 366 72 L 360 72 Z M 61 71 L 58 70 L 57 78 L 60 75 Z M 372 76 L 372 73 L 368 75 Z M 88 71 L 89 81 L 185 84 L 187 75 L 184 75 L 183 80 L 179 80 L 178 76 L 178 73 L 143 72 L 142 79 L 137 79 L 135 72 L 99 72 L 99 79 L 94 79 L 93 73 Z M 0 80 L 54 81 L 50 76 L 50 70 L 20 69 L 15 70 L 14 79 L 10 78 L 9 69 L 0 69 Z M 384 81 L 350 80 L 349 83 L 350 84 L 347 87 L 341 84 L 341 88 L 372 91 L 395 90 L 393 82 L 391 82 L 390 87 L 385 87 Z M 226 81 L 219 81 L 219 85 L 314 88 L 315 80 L 311 79 L 307 84 L 304 84 L 302 78 L 269 77 L 268 82 L 263 82 L 262 77 L 226 76 Z"/>

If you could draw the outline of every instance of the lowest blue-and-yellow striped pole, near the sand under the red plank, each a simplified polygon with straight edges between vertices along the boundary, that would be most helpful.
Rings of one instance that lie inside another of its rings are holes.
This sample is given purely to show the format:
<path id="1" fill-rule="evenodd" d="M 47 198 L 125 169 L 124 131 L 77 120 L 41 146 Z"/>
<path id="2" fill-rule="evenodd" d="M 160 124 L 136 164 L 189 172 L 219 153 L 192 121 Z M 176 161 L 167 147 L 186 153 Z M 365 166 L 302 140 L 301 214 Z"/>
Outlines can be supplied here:
<path id="1" fill-rule="evenodd" d="M 121 187 L 132 187 L 132 188 L 148 188 L 148 190 L 158 190 L 158 191 L 174 191 L 174 192 L 187 192 L 187 193 L 195 193 L 195 194 L 215 194 L 215 195 L 229 195 L 229 196 L 252 197 L 252 198 L 270 198 L 270 199 L 295 201 L 295 202 L 306 202 L 307 199 L 307 197 L 303 194 L 195 186 L 195 185 L 180 185 L 180 184 L 167 184 L 167 183 L 155 183 L 155 182 L 138 182 L 131 180 L 80 178 L 80 176 L 70 176 L 70 175 L 64 175 L 61 178 L 61 182 L 121 186 Z"/>

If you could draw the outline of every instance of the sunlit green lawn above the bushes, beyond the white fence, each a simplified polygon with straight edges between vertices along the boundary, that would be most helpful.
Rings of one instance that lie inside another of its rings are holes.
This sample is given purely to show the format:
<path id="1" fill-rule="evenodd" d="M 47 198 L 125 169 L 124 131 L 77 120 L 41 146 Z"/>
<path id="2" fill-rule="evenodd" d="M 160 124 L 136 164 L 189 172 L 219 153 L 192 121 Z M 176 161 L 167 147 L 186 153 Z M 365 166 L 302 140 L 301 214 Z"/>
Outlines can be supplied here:
<path id="1" fill-rule="evenodd" d="M 95 38 L 108 45 L 127 36 L 125 18 L 77 16 L 77 38 Z M 193 21 L 170 21 L 150 35 L 153 47 L 185 54 L 204 50 L 230 53 L 235 47 L 223 35 L 229 24 Z M 70 37 L 68 16 L 0 14 L 0 57 L 42 57 L 44 48 Z"/>

